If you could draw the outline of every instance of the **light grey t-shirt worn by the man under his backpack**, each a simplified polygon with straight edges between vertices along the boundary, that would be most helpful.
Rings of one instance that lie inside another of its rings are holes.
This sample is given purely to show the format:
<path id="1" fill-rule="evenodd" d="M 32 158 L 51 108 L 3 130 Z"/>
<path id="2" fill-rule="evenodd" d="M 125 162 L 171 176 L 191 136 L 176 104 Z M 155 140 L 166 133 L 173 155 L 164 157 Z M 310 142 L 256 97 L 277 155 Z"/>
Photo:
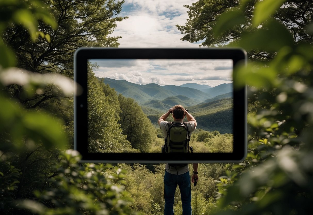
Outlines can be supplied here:
<path id="1" fill-rule="evenodd" d="M 167 136 L 167 131 L 168 131 L 168 125 L 167 125 L 167 121 L 161 121 L 160 122 L 160 128 L 163 131 L 164 137 Z M 174 121 L 174 123 L 177 123 L 177 121 Z M 196 125 L 193 121 L 189 121 L 187 124 L 187 130 L 189 131 L 189 136 L 191 136 L 191 133 L 196 129 Z M 183 166 L 183 167 L 172 167 L 169 166 L 168 164 L 166 164 L 165 167 L 165 171 L 171 173 L 171 174 L 175 174 L 175 175 L 182 175 L 186 172 L 189 171 L 189 166 Z"/>

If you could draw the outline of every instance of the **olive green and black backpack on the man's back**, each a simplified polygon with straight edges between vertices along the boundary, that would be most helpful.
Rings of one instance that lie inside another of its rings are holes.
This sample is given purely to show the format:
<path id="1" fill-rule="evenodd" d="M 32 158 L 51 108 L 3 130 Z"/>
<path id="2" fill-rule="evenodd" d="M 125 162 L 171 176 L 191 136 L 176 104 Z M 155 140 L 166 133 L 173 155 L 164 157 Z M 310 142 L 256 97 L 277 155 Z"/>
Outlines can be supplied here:
<path id="1" fill-rule="evenodd" d="M 162 146 L 162 153 L 192 153 L 192 147 L 189 146 L 188 123 L 168 122 L 167 125 L 167 137 Z"/>

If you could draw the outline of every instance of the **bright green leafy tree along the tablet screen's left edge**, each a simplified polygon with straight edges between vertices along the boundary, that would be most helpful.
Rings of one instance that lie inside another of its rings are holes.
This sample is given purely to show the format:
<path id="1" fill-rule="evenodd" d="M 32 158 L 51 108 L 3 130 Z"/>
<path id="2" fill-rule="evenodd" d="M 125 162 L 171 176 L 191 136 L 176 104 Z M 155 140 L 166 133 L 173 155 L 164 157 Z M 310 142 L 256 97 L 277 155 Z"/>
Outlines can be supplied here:
<path id="1" fill-rule="evenodd" d="M 110 105 L 94 73 L 91 70 L 88 72 L 88 150 L 108 153 L 131 149 L 130 142 L 121 134 L 115 117 L 116 109 Z"/>

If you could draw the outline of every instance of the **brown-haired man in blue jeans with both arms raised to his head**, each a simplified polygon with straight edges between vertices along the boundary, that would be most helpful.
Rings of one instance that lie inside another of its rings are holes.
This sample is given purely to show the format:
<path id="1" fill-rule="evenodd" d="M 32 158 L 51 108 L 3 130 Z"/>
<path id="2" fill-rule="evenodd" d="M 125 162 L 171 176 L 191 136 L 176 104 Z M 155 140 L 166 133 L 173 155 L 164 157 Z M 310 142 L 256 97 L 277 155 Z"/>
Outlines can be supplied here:
<path id="1" fill-rule="evenodd" d="M 172 117 L 174 118 L 175 123 L 182 123 L 184 117 L 187 117 L 188 121 L 188 131 L 189 136 L 191 136 L 192 131 L 196 129 L 197 122 L 195 118 L 187 112 L 187 110 L 182 107 L 182 105 L 175 105 L 170 108 L 167 113 L 163 114 L 159 120 L 158 124 L 164 133 L 164 137 L 167 137 L 168 125 L 167 117 L 172 113 Z M 194 181 L 198 181 L 198 163 L 192 164 L 193 174 L 192 174 L 192 183 Z M 191 215 L 191 183 L 190 183 L 190 175 L 189 175 L 189 166 L 185 165 L 182 167 L 173 167 L 168 163 L 165 167 L 165 175 L 164 175 L 164 215 L 173 215 L 174 210 L 174 196 L 177 185 L 180 190 L 181 199 L 182 199 L 182 214 L 183 215 Z"/>

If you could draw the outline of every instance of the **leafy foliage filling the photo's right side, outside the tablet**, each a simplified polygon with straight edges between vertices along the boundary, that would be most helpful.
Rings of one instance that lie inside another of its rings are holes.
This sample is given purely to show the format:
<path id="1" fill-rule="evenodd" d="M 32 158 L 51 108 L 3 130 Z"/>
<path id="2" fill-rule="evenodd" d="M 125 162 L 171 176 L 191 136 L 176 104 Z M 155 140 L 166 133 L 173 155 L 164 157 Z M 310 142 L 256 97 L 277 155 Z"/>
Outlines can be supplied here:
<path id="1" fill-rule="evenodd" d="M 248 156 L 220 177 L 218 206 L 231 210 L 218 214 L 309 213 L 312 2 L 200 0 L 185 7 L 183 39 L 241 46 L 254 60 L 234 77 L 235 87 L 250 86 Z"/>

